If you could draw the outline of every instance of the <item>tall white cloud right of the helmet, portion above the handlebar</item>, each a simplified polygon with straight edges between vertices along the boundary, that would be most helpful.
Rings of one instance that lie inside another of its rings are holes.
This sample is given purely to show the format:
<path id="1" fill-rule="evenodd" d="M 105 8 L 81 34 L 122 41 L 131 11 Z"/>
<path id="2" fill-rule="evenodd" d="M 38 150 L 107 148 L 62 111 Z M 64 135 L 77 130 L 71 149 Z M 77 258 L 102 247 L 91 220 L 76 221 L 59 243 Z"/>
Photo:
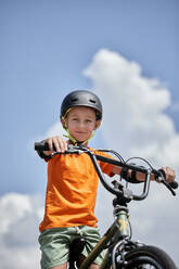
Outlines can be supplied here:
<path id="1" fill-rule="evenodd" d="M 171 101 L 162 82 L 143 77 L 138 63 L 108 50 L 94 55 L 85 75 L 92 79 L 104 105 L 107 145 L 122 155 L 140 154 L 179 168 L 179 134 L 165 114 Z"/>

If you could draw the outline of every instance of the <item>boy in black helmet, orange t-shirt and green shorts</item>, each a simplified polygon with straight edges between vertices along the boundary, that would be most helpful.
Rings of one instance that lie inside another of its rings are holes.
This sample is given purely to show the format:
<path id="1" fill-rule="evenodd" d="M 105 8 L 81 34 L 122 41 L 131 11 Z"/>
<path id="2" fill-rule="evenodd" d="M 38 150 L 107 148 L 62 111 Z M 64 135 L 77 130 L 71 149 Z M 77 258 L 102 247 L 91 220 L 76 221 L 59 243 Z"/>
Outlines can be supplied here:
<path id="1" fill-rule="evenodd" d="M 57 152 L 65 152 L 68 144 L 84 144 L 100 126 L 102 104 L 90 91 L 73 91 L 65 97 L 61 106 L 61 123 L 68 133 L 68 141 L 61 137 L 48 138 L 50 151 L 39 153 L 48 162 L 48 185 L 46 210 L 40 223 L 42 269 L 66 269 L 69 243 L 82 234 L 87 240 L 82 255 L 89 252 L 100 240 L 94 206 L 98 189 L 98 176 L 87 154 L 61 154 L 51 158 L 53 145 Z M 94 151 L 98 154 L 106 155 Z M 99 162 L 101 169 L 108 176 L 120 174 L 119 167 Z M 174 181 L 175 171 L 164 167 L 166 180 Z M 136 180 L 142 180 L 138 174 Z M 98 269 L 102 255 L 90 266 Z"/>

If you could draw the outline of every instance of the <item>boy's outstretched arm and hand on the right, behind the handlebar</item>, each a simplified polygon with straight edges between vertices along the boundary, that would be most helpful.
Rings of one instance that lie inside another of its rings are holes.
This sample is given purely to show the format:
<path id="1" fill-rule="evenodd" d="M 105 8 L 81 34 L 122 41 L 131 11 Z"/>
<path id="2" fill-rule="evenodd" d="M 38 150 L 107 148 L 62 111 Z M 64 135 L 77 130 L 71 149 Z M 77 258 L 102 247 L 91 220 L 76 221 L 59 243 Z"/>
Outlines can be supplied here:
<path id="1" fill-rule="evenodd" d="M 167 167 L 167 166 L 162 167 L 162 169 L 165 171 L 165 180 L 168 183 L 174 182 L 175 178 L 176 178 L 175 170 L 172 170 L 170 167 Z M 122 169 L 122 167 L 119 167 L 119 166 L 114 166 L 112 172 L 116 174 L 116 175 L 123 174 L 122 176 L 125 179 L 129 178 L 129 181 L 132 183 L 139 183 L 139 182 L 144 181 L 144 179 L 145 179 L 145 177 L 142 172 L 132 172 L 131 170 L 124 171 Z M 154 175 L 151 176 L 151 180 L 155 180 Z"/>

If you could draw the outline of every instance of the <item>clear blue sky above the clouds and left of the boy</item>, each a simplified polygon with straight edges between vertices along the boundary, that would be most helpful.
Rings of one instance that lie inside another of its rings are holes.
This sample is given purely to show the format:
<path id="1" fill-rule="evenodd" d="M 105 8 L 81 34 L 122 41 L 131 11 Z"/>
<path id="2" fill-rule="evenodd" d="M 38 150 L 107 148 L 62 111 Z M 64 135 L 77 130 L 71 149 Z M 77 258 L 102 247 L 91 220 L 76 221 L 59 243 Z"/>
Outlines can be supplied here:
<path id="1" fill-rule="evenodd" d="M 100 93 L 99 80 L 89 73 L 103 49 L 110 53 L 106 57 L 114 52 L 136 63 L 140 77 L 156 79 L 167 89 L 169 104 L 163 112 L 178 136 L 178 10 L 177 0 L 0 1 L 1 197 L 12 192 L 43 195 L 46 166 L 33 151 L 34 141 L 57 123 L 62 99 L 71 90 L 93 88 Z M 107 94 L 110 99 L 111 89 Z M 105 107 L 111 105 L 107 98 L 102 95 Z M 99 130 L 97 148 L 114 149 L 108 142 L 113 133 Z"/>

